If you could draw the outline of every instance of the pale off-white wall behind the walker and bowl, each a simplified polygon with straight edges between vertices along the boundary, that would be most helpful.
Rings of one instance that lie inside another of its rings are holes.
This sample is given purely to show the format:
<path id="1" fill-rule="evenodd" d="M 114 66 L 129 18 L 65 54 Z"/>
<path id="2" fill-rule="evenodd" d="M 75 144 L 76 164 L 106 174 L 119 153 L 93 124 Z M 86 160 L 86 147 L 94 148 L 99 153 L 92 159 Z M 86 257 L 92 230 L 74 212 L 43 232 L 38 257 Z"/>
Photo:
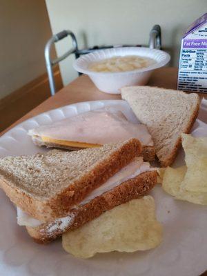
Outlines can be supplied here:
<path id="1" fill-rule="evenodd" d="M 162 45 L 177 66 L 181 36 L 206 12 L 206 0 L 46 0 L 52 32 L 75 32 L 79 46 L 148 44 L 150 29 L 161 25 Z M 57 43 L 58 55 L 68 50 L 67 39 Z M 61 63 L 63 83 L 77 77 L 72 57 Z"/>

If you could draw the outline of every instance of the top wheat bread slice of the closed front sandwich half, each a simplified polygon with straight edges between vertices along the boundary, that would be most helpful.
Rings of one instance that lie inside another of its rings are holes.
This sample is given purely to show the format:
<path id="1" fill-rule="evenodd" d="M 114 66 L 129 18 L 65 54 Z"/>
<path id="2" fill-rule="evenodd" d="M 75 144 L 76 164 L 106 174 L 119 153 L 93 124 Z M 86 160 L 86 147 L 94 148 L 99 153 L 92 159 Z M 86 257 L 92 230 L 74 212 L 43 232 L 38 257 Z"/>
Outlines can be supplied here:
<path id="1" fill-rule="evenodd" d="M 141 153 L 137 139 L 68 152 L 5 157 L 0 160 L 0 187 L 21 210 L 40 221 L 66 216 Z"/>

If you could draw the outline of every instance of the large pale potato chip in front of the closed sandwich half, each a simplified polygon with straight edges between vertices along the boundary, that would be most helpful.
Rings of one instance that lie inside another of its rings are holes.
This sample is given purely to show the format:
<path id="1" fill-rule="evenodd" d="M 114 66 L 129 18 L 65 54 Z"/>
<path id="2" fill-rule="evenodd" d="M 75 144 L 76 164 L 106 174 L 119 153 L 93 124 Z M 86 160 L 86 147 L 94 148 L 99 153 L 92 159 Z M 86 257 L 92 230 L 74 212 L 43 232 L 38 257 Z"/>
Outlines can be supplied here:
<path id="1" fill-rule="evenodd" d="M 115 250 L 148 250 L 158 246 L 161 239 L 155 201 L 146 196 L 121 204 L 81 228 L 63 234 L 63 248 L 75 257 L 88 258 Z"/>

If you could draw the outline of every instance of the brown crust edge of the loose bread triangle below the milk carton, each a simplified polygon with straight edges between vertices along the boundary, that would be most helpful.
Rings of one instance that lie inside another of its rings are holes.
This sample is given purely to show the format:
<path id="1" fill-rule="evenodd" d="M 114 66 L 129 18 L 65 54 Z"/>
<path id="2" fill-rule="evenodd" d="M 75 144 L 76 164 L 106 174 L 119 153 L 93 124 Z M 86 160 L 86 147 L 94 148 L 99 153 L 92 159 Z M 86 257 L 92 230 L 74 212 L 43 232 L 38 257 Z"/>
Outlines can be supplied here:
<path id="1" fill-rule="evenodd" d="M 193 124 L 195 123 L 195 120 L 197 119 L 197 116 L 199 114 L 199 105 L 200 105 L 200 101 L 199 101 L 199 96 L 197 95 L 197 105 L 195 107 L 195 110 L 193 111 L 192 116 L 189 119 L 189 124 L 188 124 L 188 126 L 186 126 L 186 129 L 184 130 L 183 133 L 186 133 L 186 134 L 190 133 L 190 130 L 193 127 Z M 168 159 L 164 159 L 164 160 L 160 159 L 161 167 L 170 166 L 175 161 L 177 152 L 180 147 L 181 147 L 181 136 L 179 137 L 179 139 L 177 139 L 177 142 L 175 144 L 174 149 L 172 150 L 170 157 L 168 157 Z"/>

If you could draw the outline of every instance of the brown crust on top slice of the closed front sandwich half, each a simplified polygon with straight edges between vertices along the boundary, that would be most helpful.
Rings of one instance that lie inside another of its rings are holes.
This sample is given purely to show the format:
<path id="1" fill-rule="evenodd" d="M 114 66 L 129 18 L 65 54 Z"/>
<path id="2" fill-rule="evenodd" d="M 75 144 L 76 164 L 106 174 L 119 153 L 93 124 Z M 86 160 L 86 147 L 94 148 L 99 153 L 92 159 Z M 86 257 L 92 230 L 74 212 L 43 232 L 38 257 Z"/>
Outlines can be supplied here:
<path id="1" fill-rule="evenodd" d="M 101 186 L 117 171 L 126 166 L 141 153 L 141 144 L 137 139 L 129 139 L 112 150 L 109 156 L 99 161 L 92 170 L 70 184 L 61 193 L 47 200 L 38 199 L 30 193 L 17 188 L 6 175 L 0 175 L 0 187 L 10 200 L 30 216 L 40 221 L 52 221 L 65 217 L 75 204 L 78 204 L 92 190 Z M 87 161 L 87 160 L 86 160 Z"/>

